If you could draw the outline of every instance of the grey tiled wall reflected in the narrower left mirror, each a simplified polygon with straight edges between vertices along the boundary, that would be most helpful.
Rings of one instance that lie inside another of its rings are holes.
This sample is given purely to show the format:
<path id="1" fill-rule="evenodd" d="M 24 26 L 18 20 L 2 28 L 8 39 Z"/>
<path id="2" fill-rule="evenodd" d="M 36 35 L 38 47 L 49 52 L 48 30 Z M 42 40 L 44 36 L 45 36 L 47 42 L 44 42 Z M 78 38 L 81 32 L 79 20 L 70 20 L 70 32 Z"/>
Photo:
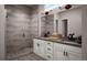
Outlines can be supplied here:
<path id="1" fill-rule="evenodd" d="M 41 35 L 44 36 L 44 33 L 50 32 L 52 35 L 54 32 L 54 15 L 45 15 L 42 17 L 42 22 L 41 22 Z"/>

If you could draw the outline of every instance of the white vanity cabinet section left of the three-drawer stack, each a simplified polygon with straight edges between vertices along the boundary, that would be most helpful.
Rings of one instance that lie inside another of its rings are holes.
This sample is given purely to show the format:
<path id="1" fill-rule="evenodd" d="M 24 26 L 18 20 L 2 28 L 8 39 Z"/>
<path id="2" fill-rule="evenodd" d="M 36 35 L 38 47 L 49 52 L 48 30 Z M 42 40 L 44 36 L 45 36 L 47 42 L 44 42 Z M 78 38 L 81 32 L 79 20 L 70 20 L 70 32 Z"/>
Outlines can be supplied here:
<path id="1" fill-rule="evenodd" d="M 42 57 L 45 56 L 45 41 L 34 39 L 33 52 Z"/>

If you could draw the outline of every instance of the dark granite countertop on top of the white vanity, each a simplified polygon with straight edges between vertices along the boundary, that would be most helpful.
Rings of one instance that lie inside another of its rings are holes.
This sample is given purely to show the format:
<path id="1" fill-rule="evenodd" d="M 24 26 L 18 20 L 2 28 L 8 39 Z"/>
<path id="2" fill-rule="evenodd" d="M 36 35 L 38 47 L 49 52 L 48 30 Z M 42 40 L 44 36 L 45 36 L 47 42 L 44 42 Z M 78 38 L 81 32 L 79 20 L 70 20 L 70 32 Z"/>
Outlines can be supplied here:
<path id="1" fill-rule="evenodd" d="M 48 39 L 48 37 L 35 37 L 35 39 L 40 39 L 40 40 L 44 40 L 44 41 L 51 41 L 51 42 L 56 42 L 56 43 L 61 43 L 61 44 L 66 44 L 66 45 L 81 47 L 81 44 L 79 44 L 77 42 L 67 41 L 67 40 L 52 40 L 52 39 Z"/>

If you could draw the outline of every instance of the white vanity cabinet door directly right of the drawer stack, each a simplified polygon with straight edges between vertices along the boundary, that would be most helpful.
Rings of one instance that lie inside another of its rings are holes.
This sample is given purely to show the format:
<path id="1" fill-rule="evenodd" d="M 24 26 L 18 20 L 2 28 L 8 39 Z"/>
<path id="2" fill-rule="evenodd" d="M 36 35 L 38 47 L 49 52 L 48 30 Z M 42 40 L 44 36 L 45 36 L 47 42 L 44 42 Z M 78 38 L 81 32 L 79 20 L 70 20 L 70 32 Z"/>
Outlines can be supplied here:
<path id="1" fill-rule="evenodd" d="M 54 61 L 65 61 L 63 44 L 54 43 Z"/>

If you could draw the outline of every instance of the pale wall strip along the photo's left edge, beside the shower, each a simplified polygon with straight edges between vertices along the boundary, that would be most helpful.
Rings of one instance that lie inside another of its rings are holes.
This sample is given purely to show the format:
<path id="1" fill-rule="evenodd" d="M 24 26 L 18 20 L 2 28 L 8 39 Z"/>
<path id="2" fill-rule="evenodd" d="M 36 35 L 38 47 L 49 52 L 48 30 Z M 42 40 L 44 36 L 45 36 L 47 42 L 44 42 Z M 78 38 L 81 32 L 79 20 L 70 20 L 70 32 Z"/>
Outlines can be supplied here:
<path id="1" fill-rule="evenodd" d="M 0 4 L 0 59 L 4 59 L 4 26 L 6 10 L 4 6 Z"/>

